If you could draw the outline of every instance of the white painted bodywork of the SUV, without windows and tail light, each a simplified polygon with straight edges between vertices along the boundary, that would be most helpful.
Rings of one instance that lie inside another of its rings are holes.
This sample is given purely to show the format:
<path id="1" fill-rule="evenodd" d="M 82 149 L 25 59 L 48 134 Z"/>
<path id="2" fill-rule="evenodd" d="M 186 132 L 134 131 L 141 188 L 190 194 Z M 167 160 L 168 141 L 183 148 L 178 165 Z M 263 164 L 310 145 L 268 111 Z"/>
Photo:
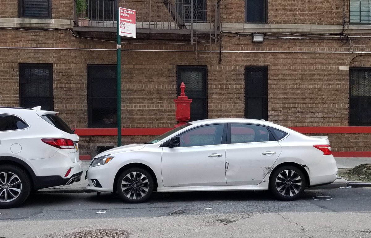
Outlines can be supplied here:
<path id="1" fill-rule="evenodd" d="M 58 149 L 41 140 L 63 138 L 78 143 L 79 138 L 76 134 L 63 132 L 40 117 L 55 115 L 58 112 L 1 108 L 0 113 L 16 116 L 29 125 L 25 129 L 0 131 L 0 157 L 9 156 L 25 162 L 36 176 L 60 176 L 68 181 L 74 174 L 82 172 L 79 152 L 76 148 Z M 71 172 L 65 176 L 69 168 Z"/>

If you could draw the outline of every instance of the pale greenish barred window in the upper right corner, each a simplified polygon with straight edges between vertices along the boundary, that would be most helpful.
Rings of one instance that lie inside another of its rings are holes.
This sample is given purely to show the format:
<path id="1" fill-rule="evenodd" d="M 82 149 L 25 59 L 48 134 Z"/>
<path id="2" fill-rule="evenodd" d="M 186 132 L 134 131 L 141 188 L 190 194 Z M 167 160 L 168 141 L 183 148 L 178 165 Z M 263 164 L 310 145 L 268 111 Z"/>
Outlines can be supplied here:
<path id="1" fill-rule="evenodd" d="M 349 6 L 350 23 L 371 23 L 371 1 L 350 0 Z"/>

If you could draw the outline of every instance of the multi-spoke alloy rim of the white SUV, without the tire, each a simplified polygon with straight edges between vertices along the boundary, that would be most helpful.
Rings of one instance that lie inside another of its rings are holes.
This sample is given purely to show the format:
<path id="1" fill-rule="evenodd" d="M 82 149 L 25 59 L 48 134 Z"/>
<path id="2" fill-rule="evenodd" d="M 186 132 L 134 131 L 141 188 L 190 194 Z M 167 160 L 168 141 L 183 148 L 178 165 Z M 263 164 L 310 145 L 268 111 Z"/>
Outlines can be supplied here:
<path id="1" fill-rule="evenodd" d="M 22 182 L 12 172 L 0 172 L 0 201 L 11 202 L 18 198 L 22 191 Z"/>

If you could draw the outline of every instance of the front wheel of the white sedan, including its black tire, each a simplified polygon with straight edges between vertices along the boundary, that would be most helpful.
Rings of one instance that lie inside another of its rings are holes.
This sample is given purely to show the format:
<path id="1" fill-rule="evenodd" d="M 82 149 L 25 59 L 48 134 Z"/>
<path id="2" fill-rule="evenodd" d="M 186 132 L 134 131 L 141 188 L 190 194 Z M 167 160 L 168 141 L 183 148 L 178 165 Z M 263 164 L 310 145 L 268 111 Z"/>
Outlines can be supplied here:
<path id="1" fill-rule="evenodd" d="M 142 168 L 129 168 L 117 179 L 118 195 L 129 203 L 141 203 L 150 198 L 153 191 L 153 178 Z"/>

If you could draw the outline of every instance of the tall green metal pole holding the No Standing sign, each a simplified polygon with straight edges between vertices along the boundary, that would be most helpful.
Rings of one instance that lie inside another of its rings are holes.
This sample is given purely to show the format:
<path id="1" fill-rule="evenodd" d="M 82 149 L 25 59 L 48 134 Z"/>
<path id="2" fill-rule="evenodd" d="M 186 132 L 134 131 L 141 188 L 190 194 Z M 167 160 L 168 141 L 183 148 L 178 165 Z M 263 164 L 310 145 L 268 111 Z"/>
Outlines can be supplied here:
<path id="1" fill-rule="evenodd" d="M 120 36 L 120 10 L 117 4 L 117 146 L 121 146 L 121 36 Z"/>

